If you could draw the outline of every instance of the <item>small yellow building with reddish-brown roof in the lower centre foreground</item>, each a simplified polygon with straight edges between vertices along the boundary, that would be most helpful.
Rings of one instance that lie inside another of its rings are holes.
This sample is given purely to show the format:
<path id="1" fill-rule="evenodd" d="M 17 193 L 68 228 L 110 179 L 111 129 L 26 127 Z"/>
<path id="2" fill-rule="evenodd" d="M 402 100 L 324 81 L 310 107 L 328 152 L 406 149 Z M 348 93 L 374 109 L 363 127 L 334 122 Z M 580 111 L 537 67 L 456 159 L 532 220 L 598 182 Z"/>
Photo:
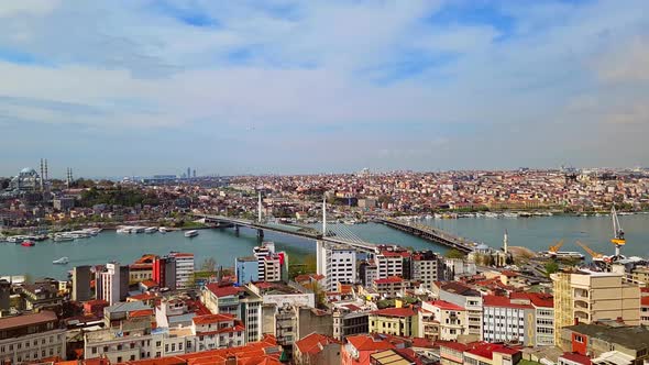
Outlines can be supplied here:
<path id="1" fill-rule="evenodd" d="M 385 308 L 370 312 L 370 333 L 418 336 L 417 312 L 411 308 Z"/>

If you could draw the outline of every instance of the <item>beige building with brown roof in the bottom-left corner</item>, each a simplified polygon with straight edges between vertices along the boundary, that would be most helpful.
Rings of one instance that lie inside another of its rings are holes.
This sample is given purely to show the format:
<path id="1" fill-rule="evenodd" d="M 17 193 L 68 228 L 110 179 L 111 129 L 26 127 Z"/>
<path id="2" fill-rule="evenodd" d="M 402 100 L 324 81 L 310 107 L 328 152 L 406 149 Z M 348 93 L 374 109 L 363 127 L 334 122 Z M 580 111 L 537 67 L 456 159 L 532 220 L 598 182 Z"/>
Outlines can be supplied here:
<path id="1" fill-rule="evenodd" d="M 36 363 L 66 357 L 65 328 L 54 312 L 0 318 L 0 364 Z"/>

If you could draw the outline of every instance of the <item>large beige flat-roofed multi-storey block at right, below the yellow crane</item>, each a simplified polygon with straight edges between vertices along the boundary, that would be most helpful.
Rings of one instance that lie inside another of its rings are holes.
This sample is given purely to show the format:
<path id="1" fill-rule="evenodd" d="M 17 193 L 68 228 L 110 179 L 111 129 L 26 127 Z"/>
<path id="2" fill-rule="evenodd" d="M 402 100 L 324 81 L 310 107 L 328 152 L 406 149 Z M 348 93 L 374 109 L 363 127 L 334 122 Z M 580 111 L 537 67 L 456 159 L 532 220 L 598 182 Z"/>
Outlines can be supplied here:
<path id="1" fill-rule="evenodd" d="M 575 322 L 623 320 L 640 324 L 640 288 L 623 280 L 617 273 L 556 273 L 550 276 L 554 289 L 554 343 L 561 329 Z"/>

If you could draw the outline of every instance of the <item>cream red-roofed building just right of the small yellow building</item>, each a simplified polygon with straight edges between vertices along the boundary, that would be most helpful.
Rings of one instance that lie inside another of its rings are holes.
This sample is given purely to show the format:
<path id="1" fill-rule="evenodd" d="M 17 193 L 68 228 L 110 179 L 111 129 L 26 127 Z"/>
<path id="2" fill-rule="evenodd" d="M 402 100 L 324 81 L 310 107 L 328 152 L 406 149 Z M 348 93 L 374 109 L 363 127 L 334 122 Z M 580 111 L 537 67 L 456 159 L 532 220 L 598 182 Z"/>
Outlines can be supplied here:
<path id="1" fill-rule="evenodd" d="M 439 339 L 442 341 L 458 340 L 468 332 L 466 310 L 446 300 L 425 301 L 421 309 L 431 312 L 439 322 Z"/>

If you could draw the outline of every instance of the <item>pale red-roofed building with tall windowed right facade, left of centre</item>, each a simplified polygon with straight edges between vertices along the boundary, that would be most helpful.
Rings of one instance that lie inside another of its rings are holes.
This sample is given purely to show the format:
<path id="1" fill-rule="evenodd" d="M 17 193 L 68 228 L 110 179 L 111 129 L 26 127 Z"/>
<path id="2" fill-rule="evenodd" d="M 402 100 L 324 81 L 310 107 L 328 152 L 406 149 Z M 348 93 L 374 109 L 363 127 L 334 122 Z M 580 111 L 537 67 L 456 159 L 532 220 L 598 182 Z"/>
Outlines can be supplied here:
<path id="1" fill-rule="evenodd" d="M 201 290 L 201 301 L 212 313 L 234 314 L 245 325 L 245 342 L 262 339 L 261 296 L 246 287 L 208 284 Z"/>

